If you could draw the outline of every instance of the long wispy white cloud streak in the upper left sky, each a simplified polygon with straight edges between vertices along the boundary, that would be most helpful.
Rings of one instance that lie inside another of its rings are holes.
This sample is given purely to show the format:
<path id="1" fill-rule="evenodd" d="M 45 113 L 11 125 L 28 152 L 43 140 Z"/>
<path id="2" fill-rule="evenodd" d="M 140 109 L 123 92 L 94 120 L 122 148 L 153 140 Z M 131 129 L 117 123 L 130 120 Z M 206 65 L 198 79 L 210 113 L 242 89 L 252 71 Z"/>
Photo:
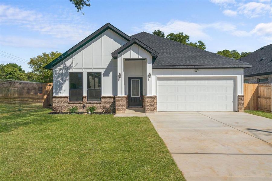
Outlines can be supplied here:
<path id="1" fill-rule="evenodd" d="M 83 40 L 94 30 L 93 26 L 65 10 L 60 16 L 0 5 L 1 24 L 15 24 L 41 34 L 52 35 L 54 38 L 69 38 L 71 42 Z"/>

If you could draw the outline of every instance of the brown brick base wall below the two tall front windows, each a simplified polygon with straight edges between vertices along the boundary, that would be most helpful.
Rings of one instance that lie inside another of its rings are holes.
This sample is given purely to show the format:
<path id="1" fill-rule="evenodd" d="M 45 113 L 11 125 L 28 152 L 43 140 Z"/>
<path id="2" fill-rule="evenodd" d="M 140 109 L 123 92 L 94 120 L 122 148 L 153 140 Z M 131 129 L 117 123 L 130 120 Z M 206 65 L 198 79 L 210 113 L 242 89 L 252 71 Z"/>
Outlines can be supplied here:
<path id="1" fill-rule="evenodd" d="M 83 104 L 86 106 L 83 107 Z M 95 106 L 96 111 L 102 111 L 103 107 L 115 107 L 115 97 L 114 96 L 102 96 L 101 101 L 87 101 L 87 96 L 83 96 L 83 101 L 70 102 L 69 96 L 53 96 L 53 111 L 63 111 L 66 112 L 68 108 L 72 106 L 77 106 L 79 111 L 86 111 L 87 107 Z"/>

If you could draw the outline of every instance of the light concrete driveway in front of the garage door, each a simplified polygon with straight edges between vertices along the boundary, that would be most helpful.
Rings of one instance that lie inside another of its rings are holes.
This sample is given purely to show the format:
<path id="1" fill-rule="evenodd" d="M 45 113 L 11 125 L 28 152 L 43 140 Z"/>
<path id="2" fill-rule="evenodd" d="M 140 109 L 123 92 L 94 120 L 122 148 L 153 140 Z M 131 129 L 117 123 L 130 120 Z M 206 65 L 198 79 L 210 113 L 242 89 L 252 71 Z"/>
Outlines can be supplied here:
<path id="1" fill-rule="evenodd" d="M 272 119 L 238 112 L 147 116 L 187 181 L 272 180 Z"/>

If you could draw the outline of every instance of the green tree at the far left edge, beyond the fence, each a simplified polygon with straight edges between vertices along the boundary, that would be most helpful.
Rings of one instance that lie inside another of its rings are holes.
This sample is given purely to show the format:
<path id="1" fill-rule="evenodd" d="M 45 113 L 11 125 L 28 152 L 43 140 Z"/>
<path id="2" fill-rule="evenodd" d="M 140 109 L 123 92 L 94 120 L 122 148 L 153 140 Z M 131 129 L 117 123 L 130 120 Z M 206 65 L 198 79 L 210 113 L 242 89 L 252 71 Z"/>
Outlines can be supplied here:
<path id="1" fill-rule="evenodd" d="M 7 63 L 6 65 L 0 64 L 0 77 L 1 79 L 27 81 L 27 75 L 21 65 L 16 63 Z"/>

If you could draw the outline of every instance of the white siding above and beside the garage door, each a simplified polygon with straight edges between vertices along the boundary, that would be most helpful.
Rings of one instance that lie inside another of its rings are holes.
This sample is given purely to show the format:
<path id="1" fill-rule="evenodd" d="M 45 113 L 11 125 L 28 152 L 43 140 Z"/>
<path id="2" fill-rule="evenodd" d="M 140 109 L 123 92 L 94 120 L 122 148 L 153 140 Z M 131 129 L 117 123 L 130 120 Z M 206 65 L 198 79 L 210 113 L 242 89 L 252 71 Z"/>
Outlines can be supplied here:
<path id="1" fill-rule="evenodd" d="M 152 95 L 157 95 L 158 76 L 233 76 L 236 77 L 237 94 L 244 95 L 244 69 L 243 68 L 211 68 L 211 69 L 153 69 Z"/>

